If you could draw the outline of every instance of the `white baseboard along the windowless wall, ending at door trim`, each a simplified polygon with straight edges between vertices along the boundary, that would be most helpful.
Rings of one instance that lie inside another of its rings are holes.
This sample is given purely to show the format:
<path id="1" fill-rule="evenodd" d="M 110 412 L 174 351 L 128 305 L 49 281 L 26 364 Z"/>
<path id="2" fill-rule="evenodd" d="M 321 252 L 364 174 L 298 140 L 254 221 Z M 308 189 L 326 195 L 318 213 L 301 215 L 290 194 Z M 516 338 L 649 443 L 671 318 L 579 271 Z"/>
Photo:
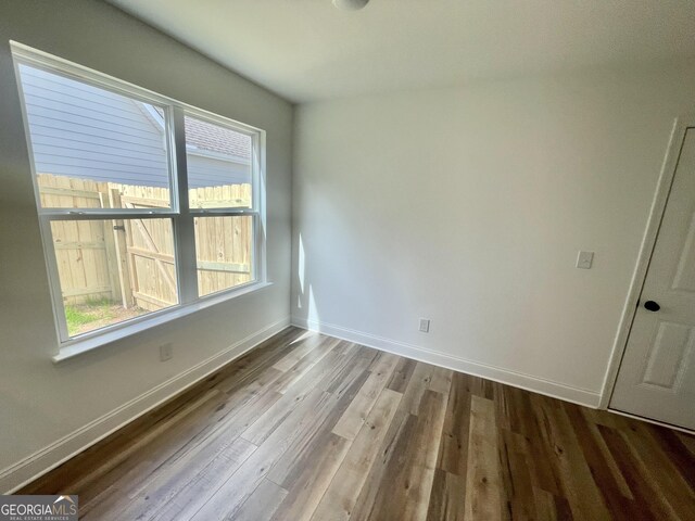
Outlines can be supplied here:
<path id="1" fill-rule="evenodd" d="M 539 394 L 544 394 L 566 402 L 597 408 L 601 402 L 599 393 L 586 389 L 574 387 L 564 383 L 554 382 L 532 374 L 511 371 L 501 367 L 481 364 L 479 361 L 467 360 L 453 355 L 446 355 L 435 351 L 417 347 L 415 345 L 397 342 L 395 340 L 377 336 L 370 333 L 343 328 L 333 323 L 306 320 L 300 317 L 292 317 L 292 325 L 309 331 L 318 331 L 330 336 L 348 340 L 357 344 L 386 351 L 395 355 L 413 358 L 433 366 L 445 367 L 458 372 L 473 374 L 476 377 L 494 380 L 515 387 L 525 389 Z"/>

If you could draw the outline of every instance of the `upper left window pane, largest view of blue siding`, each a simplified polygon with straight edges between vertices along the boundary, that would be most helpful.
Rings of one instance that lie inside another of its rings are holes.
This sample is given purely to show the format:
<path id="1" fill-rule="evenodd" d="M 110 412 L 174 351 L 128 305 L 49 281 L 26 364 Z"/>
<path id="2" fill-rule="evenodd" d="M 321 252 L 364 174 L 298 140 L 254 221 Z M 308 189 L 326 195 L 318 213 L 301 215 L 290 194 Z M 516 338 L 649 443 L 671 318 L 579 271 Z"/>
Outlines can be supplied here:
<path id="1" fill-rule="evenodd" d="M 164 111 L 20 64 L 45 208 L 170 207 Z"/>

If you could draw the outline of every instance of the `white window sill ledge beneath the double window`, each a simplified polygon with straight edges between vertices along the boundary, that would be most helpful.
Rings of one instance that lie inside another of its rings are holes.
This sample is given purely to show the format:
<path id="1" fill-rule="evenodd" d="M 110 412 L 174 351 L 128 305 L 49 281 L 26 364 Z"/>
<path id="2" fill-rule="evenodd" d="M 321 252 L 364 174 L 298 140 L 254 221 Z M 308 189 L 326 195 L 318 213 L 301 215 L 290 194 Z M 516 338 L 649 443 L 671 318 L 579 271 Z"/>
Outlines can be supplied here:
<path id="1" fill-rule="evenodd" d="M 59 353 L 52 357 L 53 364 L 74 358 L 90 351 L 98 350 L 106 344 L 132 336 L 148 329 L 177 320 L 193 313 L 206 309 L 223 302 L 231 301 L 238 296 L 247 295 L 273 285 L 273 282 L 255 282 L 238 290 L 230 290 L 216 295 L 210 295 L 191 304 L 179 305 L 169 309 L 157 312 L 154 316 L 148 316 L 132 323 L 124 322 L 119 327 L 96 333 L 86 339 L 76 339 L 61 346 Z"/>

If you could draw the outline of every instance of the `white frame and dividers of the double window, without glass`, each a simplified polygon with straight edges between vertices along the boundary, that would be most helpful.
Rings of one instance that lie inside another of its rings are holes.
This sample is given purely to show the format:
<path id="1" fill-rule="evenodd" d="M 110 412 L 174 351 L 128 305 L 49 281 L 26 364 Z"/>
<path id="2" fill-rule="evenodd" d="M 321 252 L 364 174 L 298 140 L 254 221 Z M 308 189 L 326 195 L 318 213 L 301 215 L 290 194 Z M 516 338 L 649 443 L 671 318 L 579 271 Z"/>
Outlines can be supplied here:
<path id="1" fill-rule="evenodd" d="M 58 353 L 53 361 L 61 361 L 80 353 L 115 342 L 139 333 L 161 323 L 175 320 L 199 309 L 216 305 L 237 296 L 270 285 L 266 271 L 266 198 L 265 198 L 265 148 L 266 134 L 230 118 L 198 109 L 172 98 L 152 92 L 127 81 L 68 62 L 61 58 L 38 51 L 30 47 L 11 41 L 17 89 L 20 91 L 24 129 L 26 134 L 31 177 L 36 196 L 36 207 L 41 228 L 43 254 L 50 282 L 53 315 L 59 339 Z M 34 152 L 29 135 L 25 98 L 20 76 L 20 65 L 41 68 L 53 74 L 67 76 L 81 82 L 127 96 L 128 98 L 161 107 L 165 114 L 165 137 L 169 154 L 169 193 L 170 208 L 42 208 L 38 180 L 34 164 Z M 188 192 L 188 169 L 186 151 L 185 116 L 229 128 L 251 138 L 251 187 L 252 203 L 250 208 L 190 208 Z M 253 280 L 228 290 L 205 296 L 198 295 L 198 266 L 195 259 L 195 217 L 250 216 L 253 220 L 253 243 L 251 266 Z M 151 312 L 140 317 L 124 320 L 94 331 L 71 338 L 67 332 L 65 308 L 53 247 L 51 223 L 54 220 L 108 220 L 166 218 L 172 220 L 174 234 L 174 257 L 177 272 L 178 304 L 165 309 Z"/>

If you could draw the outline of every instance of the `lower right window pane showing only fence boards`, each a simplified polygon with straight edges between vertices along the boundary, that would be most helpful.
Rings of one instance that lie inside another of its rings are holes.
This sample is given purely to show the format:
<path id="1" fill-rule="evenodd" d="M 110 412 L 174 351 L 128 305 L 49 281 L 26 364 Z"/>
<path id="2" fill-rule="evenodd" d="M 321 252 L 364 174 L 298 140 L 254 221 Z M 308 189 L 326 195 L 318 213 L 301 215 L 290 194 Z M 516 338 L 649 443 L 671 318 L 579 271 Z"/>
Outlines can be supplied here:
<path id="1" fill-rule="evenodd" d="M 253 217 L 197 217 L 194 223 L 199 295 L 251 282 Z"/>

